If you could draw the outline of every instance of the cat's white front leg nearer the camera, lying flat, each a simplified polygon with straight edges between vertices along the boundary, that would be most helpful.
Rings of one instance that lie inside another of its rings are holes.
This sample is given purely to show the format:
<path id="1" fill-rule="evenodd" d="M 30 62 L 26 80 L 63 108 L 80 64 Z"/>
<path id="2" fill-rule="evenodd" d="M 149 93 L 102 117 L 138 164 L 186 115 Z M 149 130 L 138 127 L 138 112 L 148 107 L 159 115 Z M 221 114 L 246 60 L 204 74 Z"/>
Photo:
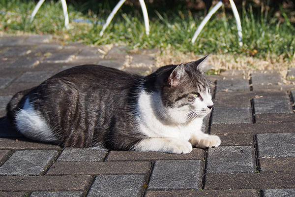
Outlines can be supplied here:
<path id="1" fill-rule="evenodd" d="M 192 151 L 193 147 L 188 141 L 168 137 L 150 137 L 137 143 L 133 150 L 136 151 L 157 151 L 165 153 L 186 154 Z"/>

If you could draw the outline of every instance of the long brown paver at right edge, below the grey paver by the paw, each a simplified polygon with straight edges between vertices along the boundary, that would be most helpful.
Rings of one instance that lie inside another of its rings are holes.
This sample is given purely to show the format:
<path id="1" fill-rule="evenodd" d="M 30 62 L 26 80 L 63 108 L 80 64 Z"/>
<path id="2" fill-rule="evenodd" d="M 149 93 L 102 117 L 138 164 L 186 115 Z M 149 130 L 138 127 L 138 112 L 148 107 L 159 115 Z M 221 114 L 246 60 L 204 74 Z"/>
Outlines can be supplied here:
<path id="1" fill-rule="evenodd" d="M 280 173 L 208 173 L 204 190 L 295 188 L 295 174 Z"/>

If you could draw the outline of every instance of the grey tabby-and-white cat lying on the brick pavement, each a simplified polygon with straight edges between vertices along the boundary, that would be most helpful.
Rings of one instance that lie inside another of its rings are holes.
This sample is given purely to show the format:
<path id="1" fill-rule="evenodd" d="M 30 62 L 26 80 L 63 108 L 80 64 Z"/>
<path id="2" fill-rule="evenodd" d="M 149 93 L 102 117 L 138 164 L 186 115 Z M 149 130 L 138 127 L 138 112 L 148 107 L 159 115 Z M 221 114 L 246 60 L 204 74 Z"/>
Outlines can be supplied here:
<path id="1" fill-rule="evenodd" d="M 217 147 L 201 131 L 211 112 L 204 61 L 158 68 L 140 76 L 98 65 L 61 71 L 17 93 L 7 118 L 24 136 L 63 147 L 186 154 Z"/>

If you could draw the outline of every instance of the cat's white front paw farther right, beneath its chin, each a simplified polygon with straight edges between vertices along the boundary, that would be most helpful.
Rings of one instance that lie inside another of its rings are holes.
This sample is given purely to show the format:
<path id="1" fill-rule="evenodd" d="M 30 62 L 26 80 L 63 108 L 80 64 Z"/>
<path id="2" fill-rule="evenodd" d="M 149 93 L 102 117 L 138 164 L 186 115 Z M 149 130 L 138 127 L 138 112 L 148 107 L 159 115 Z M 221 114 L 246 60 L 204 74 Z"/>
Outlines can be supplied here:
<path id="1" fill-rule="evenodd" d="M 217 147 L 221 143 L 221 140 L 217 135 L 209 135 L 203 132 L 194 133 L 189 141 L 197 148 Z"/>

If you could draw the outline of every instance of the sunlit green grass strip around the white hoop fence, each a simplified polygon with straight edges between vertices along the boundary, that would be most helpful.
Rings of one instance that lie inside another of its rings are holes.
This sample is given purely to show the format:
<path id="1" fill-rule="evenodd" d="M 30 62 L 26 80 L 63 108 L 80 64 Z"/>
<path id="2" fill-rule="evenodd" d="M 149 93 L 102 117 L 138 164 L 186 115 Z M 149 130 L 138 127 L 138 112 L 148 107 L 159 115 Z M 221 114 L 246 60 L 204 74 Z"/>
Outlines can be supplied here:
<path id="1" fill-rule="evenodd" d="M 179 0 L 182 2 L 181 0 Z M 123 5 L 102 37 L 103 22 L 115 2 L 68 2 L 70 29 L 63 27 L 59 1 L 46 0 L 33 22 L 29 22 L 35 3 L 31 0 L 0 0 L 0 31 L 4 33 L 50 33 L 67 41 L 103 45 L 126 44 L 130 49 L 160 48 L 196 54 L 243 54 L 261 59 L 295 58 L 295 27 L 289 13 L 280 8 L 281 18 L 274 11 L 253 8 L 251 4 L 238 8 L 242 23 L 243 46 L 237 41 L 236 21 L 231 10 L 218 10 L 194 44 L 191 38 L 204 18 L 203 11 L 192 13 L 182 5 L 158 10 L 148 4 L 150 34 L 146 35 L 141 8 Z M 73 19 L 89 20 L 76 23 Z M 64 36 L 67 35 L 67 36 Z"/>

